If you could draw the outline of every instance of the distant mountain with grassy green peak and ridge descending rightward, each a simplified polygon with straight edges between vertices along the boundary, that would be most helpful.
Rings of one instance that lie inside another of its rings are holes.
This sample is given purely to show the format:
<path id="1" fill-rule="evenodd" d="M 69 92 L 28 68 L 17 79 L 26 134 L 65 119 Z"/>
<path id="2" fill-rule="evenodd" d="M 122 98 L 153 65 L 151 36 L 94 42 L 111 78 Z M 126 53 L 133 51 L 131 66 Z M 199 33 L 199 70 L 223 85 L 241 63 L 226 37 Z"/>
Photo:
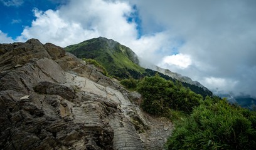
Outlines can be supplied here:
<path id="1" fill-rule="evenodd" d="M 116 76 L 120 79 L 127 79 L 132 76 L 134 79 L 141 79 L 145 76 L 154 76 L 158 73 L 162 78 L 173 81 L 181 81 L 183 86 L 191 89 L 196 94 L 202 96 L 212 96 L 210 90 L 190 78 L 181 76 L 178 73 L 173 73 L 167 69 L 155 67 L 156 71 L 152 69 L 145 69 L 139 66 L 139 59 L 137 55 L 129 48 L 119 42 L 105 37 L 98 37 L 80 42 L 78 44 L 65 47 L 65 51 L 75 54 L 77 58 L 95 59 L 105 69 L 107 69 L 110 76 Z"/>

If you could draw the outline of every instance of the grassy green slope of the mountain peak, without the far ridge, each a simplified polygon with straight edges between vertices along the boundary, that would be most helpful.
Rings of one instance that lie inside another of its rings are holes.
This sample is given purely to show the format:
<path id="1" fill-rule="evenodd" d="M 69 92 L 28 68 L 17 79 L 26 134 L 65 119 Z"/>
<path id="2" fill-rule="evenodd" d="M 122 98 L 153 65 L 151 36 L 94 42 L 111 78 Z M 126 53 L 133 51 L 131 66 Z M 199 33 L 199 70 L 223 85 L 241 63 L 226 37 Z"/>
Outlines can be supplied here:
<path id="1" fill-rule="evenodd" d="M 141 78 L 145 69 L 139 66 L 139 59 L 129 47 L 104 37 L 89 39 L 79 44 L 65 47 L 69 53 L 78 58 L 95 59 L 109 72 L 110 76 L 121 79 L 132 76 Z"/>

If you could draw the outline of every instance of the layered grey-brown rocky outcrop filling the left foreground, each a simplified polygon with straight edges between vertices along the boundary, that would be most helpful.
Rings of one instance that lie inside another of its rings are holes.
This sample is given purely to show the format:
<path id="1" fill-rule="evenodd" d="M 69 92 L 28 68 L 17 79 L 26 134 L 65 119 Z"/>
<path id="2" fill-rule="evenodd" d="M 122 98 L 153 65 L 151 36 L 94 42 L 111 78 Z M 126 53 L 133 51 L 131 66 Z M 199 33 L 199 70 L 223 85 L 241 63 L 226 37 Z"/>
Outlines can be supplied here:
<path id="1" fill-rule="evenodd" d="M 0 71 L 0 149 L 162 149 L 171 130 L 152 125 L 138 93 L 53 44 L 0 44 Z"/>

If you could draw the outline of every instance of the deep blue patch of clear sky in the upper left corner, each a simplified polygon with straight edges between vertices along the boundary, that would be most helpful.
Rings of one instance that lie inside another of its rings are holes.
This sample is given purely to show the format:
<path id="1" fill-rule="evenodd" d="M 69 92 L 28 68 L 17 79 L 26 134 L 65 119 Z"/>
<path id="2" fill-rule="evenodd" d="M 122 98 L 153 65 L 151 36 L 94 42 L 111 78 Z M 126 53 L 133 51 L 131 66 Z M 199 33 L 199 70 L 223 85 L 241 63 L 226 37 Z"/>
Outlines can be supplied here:
<path id="1" fill-rule="evenodd" d="M 32 10 L 38 8 L 42 11 L 48 9 L 56 10 L 60 3 L 53 3 L 51 1 L 5 1 L 0 3 L 0 29 L 2 32 L 8 33 L 8 36 L 15 39 L 21 35 L 24 26 L 30 26 L 33 19 Z"/>

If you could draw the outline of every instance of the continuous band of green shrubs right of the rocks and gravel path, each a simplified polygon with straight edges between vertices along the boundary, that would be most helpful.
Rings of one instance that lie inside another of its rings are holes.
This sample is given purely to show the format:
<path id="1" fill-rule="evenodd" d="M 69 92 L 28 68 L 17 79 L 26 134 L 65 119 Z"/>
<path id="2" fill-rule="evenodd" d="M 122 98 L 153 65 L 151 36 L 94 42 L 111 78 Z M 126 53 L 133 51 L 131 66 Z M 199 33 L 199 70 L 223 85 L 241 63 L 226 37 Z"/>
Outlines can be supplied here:
<path id="1" fill-rule="evenodd" d="M 144 111 L 175 122 L 167 149 L 255 149 L 255 111 L 218 97 L 203 100 L 181 83 L 166 81 L 159 74 L 120 83 L 141 93 Z"/>

